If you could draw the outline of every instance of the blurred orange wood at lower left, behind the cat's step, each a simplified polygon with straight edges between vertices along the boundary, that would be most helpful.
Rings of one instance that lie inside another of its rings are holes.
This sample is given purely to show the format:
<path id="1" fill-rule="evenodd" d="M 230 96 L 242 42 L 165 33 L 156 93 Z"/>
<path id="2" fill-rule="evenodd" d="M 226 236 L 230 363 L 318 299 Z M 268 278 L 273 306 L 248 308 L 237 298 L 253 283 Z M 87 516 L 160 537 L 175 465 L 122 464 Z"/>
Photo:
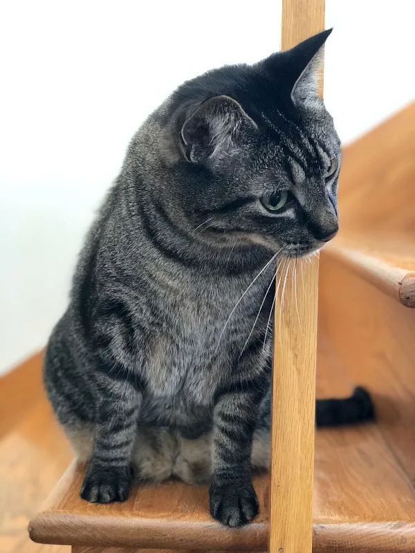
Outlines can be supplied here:
<path id="1" fill-rule="evenodd" d="M 42 390 L 42 355 L 0 379 L 0 552 L 70 553 L 30 541 L 28 521 L 73 459 Z M 31 394 L 25 404 L 26 382 Z M 9 399 L 14 398 L 12 402 Z"/>

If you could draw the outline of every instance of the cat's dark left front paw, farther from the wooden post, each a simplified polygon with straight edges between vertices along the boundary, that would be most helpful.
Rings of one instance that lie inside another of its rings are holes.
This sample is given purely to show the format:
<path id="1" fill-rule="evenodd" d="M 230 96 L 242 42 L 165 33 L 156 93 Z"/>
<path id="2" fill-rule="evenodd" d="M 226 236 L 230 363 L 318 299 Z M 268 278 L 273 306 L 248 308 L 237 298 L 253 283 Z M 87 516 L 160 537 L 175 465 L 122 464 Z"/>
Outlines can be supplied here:
<path id="1" fill-rule="evenodd" d="M 88 467 L 80 496 L 89 503 L 125 501 L 129 496 L 132 473 L 130 467 Z"/>

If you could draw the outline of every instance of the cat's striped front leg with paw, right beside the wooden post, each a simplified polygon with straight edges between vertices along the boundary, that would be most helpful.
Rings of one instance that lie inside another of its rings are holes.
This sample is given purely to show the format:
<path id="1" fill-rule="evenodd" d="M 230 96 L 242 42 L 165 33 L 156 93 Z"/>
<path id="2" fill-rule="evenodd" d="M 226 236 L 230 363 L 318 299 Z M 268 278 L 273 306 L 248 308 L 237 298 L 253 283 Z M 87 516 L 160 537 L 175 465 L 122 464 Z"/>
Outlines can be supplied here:
<path id="1" fill-rule="evenodd" d="M 257 391 L 234 391 L 214 409 L 210 514 L 224 525 L 246 524 L 258 513 L 250 456 L 260 399 Z"/>

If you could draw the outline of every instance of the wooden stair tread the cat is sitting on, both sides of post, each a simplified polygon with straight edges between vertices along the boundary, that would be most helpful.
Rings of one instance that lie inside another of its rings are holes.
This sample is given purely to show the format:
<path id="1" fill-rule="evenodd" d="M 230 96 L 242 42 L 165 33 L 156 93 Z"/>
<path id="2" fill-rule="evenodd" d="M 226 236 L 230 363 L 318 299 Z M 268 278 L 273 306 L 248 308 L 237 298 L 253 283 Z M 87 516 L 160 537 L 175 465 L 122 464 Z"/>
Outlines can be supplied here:
<path id="1" fill-rule="evenodd" d="M 318 351 L 317 395 L 348 395 L 353 382 L 339 369 L 322 336 Z M 30 523 L 33 539 L 163 549 L 266 549 L 266 474 L 255 479 L 261 514 L 235 530 L 210 518 L 207 487 L 181 482 L 136 486 L 126 503 L 90 505 L 79 498 L 82 473 L 82 467 L 72 466 L 59 481 L 48 506 Z M 313 509 L 316 551 L 335 546 L 339 552 L 349 547 L 356 552 L 363 545 L 365 552 L 415 550 L 414 489 L 377 424 L 317 431 Z"/>

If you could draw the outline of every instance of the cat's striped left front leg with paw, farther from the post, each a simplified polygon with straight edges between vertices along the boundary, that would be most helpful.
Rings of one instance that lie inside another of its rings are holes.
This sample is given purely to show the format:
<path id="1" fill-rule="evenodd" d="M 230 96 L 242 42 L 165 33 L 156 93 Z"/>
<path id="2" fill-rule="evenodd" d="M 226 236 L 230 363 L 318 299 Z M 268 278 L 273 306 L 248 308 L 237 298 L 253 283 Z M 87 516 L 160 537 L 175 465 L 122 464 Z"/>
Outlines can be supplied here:
<path id="1" fill-rule="evenodd" d="M 108 382 L 111 381 L 111 382 Z M 129 496 L 131 453 L 136 438 L 141 394 L 120 379 L 103 377 L 93 451 L 81 489 L 91 503 L 124 501 Z"/>

